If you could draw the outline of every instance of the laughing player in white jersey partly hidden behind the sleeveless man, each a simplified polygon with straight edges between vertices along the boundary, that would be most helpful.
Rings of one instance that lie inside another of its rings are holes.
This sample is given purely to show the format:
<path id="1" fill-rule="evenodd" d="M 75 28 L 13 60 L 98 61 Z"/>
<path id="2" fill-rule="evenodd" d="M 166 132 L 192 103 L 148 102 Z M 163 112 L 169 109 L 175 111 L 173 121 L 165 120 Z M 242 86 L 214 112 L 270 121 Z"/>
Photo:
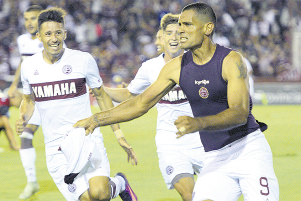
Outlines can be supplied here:
<path id="1" fill-rule="evenodd" d="M 106 88 L 112 100 L 122 102 L 142 93 L 158 77 L 166 62 L 183 53 L 180 37 L 177 33 L 179 15 L 166 14 L 161 19 L 163 33 L 156 40 L 156 45 L 163 47 L 163 53 L 142 63 L 135 78 L 124 89 Z M 157 34 L 159 35 L 159 34 Z M 176 85 L 172 91 L 157 103 L 156 145 L 159 167 L 168 189 L 175 188 L 183 200 L 191 200 L 194 171 L 199 173 L 203 166 L 204 153 L 199 133 L 191 133 L 176 138 L 177 127 L 173 122 L 183 115 L 193 116 L 191 107 L 181 88 Z"/>

